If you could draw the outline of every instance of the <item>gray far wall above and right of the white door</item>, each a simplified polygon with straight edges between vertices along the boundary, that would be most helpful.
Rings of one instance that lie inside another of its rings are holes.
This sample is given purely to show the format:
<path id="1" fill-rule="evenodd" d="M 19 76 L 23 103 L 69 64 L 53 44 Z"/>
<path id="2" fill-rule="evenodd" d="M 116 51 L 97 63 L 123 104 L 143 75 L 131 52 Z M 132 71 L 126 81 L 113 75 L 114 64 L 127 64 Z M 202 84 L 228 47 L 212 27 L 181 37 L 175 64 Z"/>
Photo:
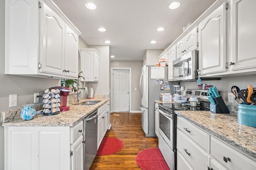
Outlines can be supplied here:
<path id="1" fill-rule="evenodd" d="M 141 68 L 143 66 L 143 61 L 110 61 L 110 69 L 113 67 L 130 67 L 132 68 L 132 103 L 130 112 L 140 112 L 140 104 L 141 104 L 141 97 L 140 97 L 140 75 L 141 75 Z M 134 90 L 137 88 L 137 90 Z"/>

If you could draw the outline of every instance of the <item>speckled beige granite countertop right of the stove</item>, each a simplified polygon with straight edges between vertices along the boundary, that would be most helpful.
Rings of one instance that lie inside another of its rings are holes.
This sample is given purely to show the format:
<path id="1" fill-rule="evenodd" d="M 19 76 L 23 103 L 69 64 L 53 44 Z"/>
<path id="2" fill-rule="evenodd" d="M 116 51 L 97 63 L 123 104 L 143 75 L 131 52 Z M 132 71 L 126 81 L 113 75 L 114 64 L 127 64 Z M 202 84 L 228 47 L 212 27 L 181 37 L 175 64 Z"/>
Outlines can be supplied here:
<path id="1" fill-rule="evenodd" d="M 210 134 L 256 158 L 256 128 L 238 123 L 237 115 L 210 111 L 175 111 Z"/>

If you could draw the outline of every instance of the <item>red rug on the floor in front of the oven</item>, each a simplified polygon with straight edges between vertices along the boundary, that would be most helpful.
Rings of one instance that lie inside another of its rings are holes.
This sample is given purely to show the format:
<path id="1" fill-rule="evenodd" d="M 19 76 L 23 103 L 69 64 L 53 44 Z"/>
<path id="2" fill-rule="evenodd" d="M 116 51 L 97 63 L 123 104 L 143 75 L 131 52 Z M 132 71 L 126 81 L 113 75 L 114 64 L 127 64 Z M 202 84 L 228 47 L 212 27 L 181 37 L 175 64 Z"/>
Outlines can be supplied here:
<path id="1" fill-rule="evenodd" d="M 142 170 L 170 170 L 158 148 L 142 150 L 136 162 Z"/>

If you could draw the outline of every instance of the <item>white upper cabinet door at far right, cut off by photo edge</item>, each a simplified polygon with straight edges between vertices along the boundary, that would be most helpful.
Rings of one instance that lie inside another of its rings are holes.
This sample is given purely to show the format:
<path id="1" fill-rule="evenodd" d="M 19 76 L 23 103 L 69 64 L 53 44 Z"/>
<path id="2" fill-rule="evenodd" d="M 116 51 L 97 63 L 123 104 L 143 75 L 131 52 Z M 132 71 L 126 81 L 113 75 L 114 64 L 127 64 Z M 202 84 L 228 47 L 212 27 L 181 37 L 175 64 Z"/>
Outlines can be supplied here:
<path id="1" fill-rule="evenodd" d="M 231 70 L 256 68 L 256 1 L 232 0 L 232 63 Z M 249 70 L 250 71 L 250 70 Z"/>

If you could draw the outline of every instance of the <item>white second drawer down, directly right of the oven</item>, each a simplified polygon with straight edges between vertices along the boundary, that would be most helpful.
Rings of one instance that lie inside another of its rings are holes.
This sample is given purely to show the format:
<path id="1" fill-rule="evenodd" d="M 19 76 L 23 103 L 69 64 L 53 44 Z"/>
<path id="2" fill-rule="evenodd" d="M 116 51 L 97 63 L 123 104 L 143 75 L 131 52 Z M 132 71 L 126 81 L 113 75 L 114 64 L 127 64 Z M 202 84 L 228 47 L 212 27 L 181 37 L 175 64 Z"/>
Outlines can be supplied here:
<path id="1" fill-rule="evenodd" d="M 210 155 L 177 129 L 177 150 L 195 170 L 205 170 Z"/>

